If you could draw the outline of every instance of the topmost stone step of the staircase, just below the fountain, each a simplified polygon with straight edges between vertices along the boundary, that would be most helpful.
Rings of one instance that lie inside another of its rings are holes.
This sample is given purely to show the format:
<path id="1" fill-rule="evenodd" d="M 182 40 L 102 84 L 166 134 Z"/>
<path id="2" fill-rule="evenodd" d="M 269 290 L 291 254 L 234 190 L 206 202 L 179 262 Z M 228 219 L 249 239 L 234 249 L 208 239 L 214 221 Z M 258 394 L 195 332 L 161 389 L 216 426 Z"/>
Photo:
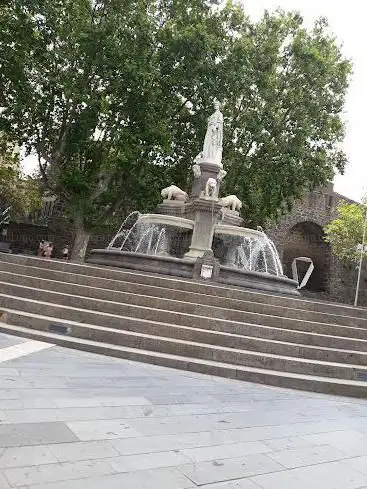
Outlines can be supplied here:
<path id="1" fill-rule="evenodd" d="M 144 284 L 162 289 L 170 289 L 179 292 L 191 292 L 195 294 L 204 294 L 218 296 L 222 298 L 230 298 L 237 300 L 245 300 L 258 302 L 268 305 L 284 306 L 295 309 L 303 309 L 308 311 L 318 311 L 329 314 L 337 314 L 344 316 L 352 316 L 358 318 L 366 317 L 366 309 L 361 307 L 352 307 L 341 304 L 333 304 L 327 302 L 316 302 L 294 297 L 286 297 L 281 295 L 267 294 L 255 292 L 253 290 L 245 290 L 240 287 L 228 287 L 224 285 L 214 285 L 210 283 L 197 282 L 180 278 L 172 278 L 163 275 L 142 274 L 131 270 L 116 270 L 109 267 L 98 267 L 86 264 L 70 263 L 61 260 L 45 260 L 23 255 L 8 255 L 0 254 L 0 261 L 6 263 L 14 263 L 27 265 L 32 267 L 42 267 L 47 270 L 66 271 L 80 275 L 93 276 L 109 280 L 131 282 L 134 284 Z M 162 294 L 164 295 L 164 294 Z"/>

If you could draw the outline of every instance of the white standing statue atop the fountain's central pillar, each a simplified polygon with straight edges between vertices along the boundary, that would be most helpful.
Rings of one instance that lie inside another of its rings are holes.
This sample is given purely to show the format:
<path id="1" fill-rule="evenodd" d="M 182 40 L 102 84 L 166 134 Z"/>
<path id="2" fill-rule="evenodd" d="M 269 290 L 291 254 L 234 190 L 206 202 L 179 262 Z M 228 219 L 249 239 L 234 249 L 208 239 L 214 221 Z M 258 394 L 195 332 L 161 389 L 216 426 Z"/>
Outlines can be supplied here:
<path id="1" fill-rule="evenodd" d="M 208 119 L 202 159 L 222 166 L 223 114 L 218 101 L 214 102 L 215 112 Z"/>

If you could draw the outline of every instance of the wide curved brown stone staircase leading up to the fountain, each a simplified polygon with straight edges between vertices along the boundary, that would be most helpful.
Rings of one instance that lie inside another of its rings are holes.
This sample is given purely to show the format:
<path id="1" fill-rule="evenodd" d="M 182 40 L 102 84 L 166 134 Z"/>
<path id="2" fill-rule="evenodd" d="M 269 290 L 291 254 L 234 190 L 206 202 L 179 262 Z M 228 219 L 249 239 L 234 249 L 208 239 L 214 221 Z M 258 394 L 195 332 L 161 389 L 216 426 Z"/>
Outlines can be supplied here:
<path id="1" fill-rule="evenodd" d="M 0 253 L 0 331 L 274 386 L 367 398 L 367 310 Z"/>

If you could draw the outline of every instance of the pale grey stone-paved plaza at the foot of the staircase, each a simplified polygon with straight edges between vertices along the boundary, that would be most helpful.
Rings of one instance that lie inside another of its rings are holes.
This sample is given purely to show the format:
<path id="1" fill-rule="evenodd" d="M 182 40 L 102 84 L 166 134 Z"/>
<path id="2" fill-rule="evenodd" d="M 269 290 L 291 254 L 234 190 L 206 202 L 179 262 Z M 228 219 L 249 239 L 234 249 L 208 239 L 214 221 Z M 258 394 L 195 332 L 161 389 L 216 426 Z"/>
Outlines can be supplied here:
<path id="1" fill-rule="evenodd" d="M 0 334 L 0 489 L 197 487 L 367 489 L 367 400 Z"/>

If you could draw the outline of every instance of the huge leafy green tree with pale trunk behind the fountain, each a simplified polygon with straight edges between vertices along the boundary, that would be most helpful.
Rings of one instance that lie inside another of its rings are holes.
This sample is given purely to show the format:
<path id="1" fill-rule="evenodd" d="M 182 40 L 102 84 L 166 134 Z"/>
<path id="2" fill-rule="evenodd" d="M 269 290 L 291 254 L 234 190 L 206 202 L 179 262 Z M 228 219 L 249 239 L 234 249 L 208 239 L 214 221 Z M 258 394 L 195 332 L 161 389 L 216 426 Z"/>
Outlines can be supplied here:
<path id="1" fill-rule="evenodd" d="M 0 123 L 67 203 L 74 259 L 95 226 L 154 208 L 167 184 L 189 186 L 214 98 L 225 114 L 223 191 L 244 201 L 250 225 L 343 171 L 350 64 L 326 22 L 309 32 L 298 14 L 278 12 L 253 23 L 218 3 L 1 7 Z"/>

